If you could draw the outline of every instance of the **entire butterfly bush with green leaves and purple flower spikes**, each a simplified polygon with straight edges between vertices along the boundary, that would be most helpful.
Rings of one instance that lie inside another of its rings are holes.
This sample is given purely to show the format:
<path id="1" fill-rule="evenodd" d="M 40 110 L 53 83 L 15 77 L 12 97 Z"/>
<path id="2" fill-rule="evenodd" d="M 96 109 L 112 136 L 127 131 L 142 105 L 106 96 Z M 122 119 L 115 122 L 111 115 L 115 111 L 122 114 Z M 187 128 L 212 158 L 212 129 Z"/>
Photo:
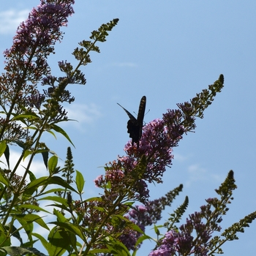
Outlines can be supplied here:
<path id="1" fill-rule="evenodd" d="M 108 32 L 118 23 L 118 19 L 113 19 L 93 31 L 91 40 L 80 42 L 80 48 L 72 53 L 77 66 L 59 61 L 64 77 L 57 78 L 51 75 L 48 56 L 54 53 L 56 41 L 62 39 L 60 28 L 67 26 L 67 18 L 74 13 L 72 4 L 72 0 L 41 0 L 18 27 L 12 48 L 4 52 L 6 66 L 0 77 L 0 157 L 5 157 L 7 168 L 0 169 L 0 255 L 43 256 L 39 243 L 50 256 L 135 255 L 146 239 L 156 242 L 150 255 L 222 253 L 222 244 L 238 239 L 237 233 L 244 232 L 244 227 L 256 217 L 256 212 L 249 214 L 218 235 L 219 223 L 236 189 L 232 170 L 216 189 L 219 198 L 208 198 L 206 206 L 190 214 L 180 227 L 177 225 L 187 209 L 188 197 L 167 222 L 157 222 L 162 211 L 182 191 L 182 185 L 150 200 L 148 183 L 163 182 L 163 173 L 172 164 L 172 148 L 178 146 L 184 134 L 195 129 L 197 117 L 203 118 L 204 110 L 223 88 L 223 75 L 189 102 L 178 104 L 176 110 L 167 110 L 162 119 L 146 124 L 138 146 L 129 141 L 126 155 L 105 165 L 105 175 L 95 179 L 103 191 L 99 197 L 83 198 L 85 181 L 82 173 L 73 168 L 70 148 L 61 167 L 57 154 L 42 141 L 45 132 L 54 137 L 60 133 L 72 144 L 69 135 L 59 127 L 60 122 L 69 121 L 64 102 L 71 104 L 75 100 L 67 86 L 86 83 L 80 67 L 91 62 L 91 51 L 99 53 L 96 43 L 105 42 Z M 10 146 L 15 144 L 22 152 L 10 170 Z M 31 172 L 37 154 L 42 155 L 48 176 L 37 178 Z M 17 169 L 26 158 L 29 162 L 24 174 L 18 176 Z M 53 213 L 39 206 L 42 201 L 50 201 Z M 42 214 L 53 214 L 56 220 L 46 224 Z M 34 232 L 37 225 L 48 232 L 47 238 Z M 157 239 L 145 233 L 146 227 L 152 225 Z M 164 235 L 160 233 L 163 228 Z M 26 234 L 26 242 L 21 232 Z M 11 238 L 18 239 L 20 246 L 12 246 Z"/>

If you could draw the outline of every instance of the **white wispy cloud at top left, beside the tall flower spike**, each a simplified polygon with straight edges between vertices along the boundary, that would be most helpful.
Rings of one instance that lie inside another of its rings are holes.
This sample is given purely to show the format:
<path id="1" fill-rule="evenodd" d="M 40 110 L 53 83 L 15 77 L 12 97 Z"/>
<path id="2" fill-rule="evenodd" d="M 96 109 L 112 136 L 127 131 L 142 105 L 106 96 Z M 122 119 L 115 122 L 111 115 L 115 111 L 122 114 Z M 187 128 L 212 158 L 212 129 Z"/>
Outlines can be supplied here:
<path id="1" fill-rule="evenodd" d="M 0 34 L 14 34 L 20 22 L 28 18 L 30 10 L 0 12 Z"/>

